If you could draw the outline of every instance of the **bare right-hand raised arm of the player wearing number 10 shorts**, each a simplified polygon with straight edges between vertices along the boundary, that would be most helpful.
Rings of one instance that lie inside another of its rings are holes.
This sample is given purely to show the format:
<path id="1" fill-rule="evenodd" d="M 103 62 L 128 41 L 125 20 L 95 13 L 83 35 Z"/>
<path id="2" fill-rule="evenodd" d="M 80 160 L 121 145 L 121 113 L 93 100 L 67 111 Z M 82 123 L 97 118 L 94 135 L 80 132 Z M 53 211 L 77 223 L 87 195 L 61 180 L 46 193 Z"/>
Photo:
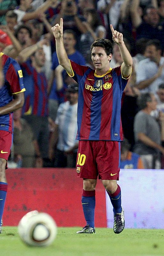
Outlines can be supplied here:
<path id="1" fill-rule="evenodd" d="M 112 25 L 110 25 L 110 29 L 112 31 L 113 41 L 116 44 L 118 44 L 118 47 L 120 49 L 121 57 L 123 59 L 123 63 L 121 65 L 121 71 L 122 71 L 123 77 L 126 78 L 131 74 L 133 60 L 130 55 L 130 52 L 126 48 L 126 45 L 123 41 L 123 34 L 118 32 L 117 30 L 114 30 Z"/>

